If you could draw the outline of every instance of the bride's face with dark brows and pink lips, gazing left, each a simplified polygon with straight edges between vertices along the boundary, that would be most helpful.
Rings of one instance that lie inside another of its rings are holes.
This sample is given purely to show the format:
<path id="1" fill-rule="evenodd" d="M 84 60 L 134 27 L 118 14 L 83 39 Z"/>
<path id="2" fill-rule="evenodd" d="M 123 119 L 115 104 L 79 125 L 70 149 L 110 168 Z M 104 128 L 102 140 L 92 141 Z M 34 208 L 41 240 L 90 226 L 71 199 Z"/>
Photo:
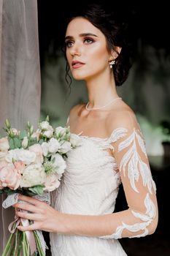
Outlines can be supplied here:
<path id="1" fill-rule="evenodd" d="M 111 54 L 104 34 L 85 18 L 74 18 L 66 29 L 66 58 L 73 78 L 88 80 L 109 69 Z"/>

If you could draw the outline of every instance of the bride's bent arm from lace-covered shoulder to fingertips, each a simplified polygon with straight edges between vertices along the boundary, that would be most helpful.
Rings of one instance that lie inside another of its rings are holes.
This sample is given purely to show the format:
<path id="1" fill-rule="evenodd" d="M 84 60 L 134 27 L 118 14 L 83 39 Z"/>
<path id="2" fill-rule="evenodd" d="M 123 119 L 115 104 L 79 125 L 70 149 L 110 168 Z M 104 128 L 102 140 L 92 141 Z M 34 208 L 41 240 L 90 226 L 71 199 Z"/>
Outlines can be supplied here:
<path id="1" fill-rule="evenodd" d="M 18 212 L 18 216 L 35 222 L 30 227 L 20 227 L 20 230 L 41 229 L 100 238 L 139 237 L 154 233 L 158 223 L 155 183 L 152 181 L 139 124 L 131 113 L 125 113 L 120 117 L 120 123 L 114 122 L 114 126 L 112 146 L 128 209 L 102 216 L 64 214 L 38 200 L 21 196 L 22 200 L 30 200 L 35 206 L 30 208 L 23 204 L 20 207 L 20 204 L 16 204 L 15 207 L 34 213 Z"/>

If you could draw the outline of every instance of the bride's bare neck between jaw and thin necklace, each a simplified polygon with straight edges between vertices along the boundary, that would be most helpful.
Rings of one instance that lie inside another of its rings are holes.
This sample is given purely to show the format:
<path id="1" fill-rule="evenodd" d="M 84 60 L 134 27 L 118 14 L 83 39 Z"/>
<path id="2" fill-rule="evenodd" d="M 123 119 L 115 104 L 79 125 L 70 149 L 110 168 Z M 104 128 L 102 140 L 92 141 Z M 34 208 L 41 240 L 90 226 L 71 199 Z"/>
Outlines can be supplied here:
<path id="1" fill-rule="evenodd" d="M 106 105 L 111 102 L 112 99 L 118 97 L 115 79 L 113 75 L 106 79 L 106 76 L 102 78 L 91 78 L 86 81 L 88 89 L 89 107 L 96 108 Z"/>

